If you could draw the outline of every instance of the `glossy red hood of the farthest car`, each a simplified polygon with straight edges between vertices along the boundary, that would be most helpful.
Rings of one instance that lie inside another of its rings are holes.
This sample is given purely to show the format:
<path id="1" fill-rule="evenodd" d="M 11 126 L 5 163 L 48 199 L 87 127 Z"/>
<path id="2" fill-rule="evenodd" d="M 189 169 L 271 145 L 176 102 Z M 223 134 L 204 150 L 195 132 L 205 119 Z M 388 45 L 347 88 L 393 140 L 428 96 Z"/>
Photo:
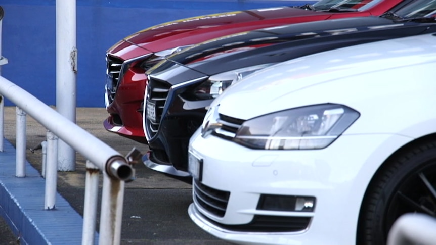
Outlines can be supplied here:
<path id="1" fill-rule="evenodd" d="M 155 25 L 125 37 L 126 42 L 138 45 L 149 52 L 158 52 L 167 48 L 198 43 L 216 36 L 227 35 L 245 30 L 264 28 L 272 25 L 328 19 L 332 13 L 316 12 L 292 7 L 274 7 L 256 10 L 244 10 L 191 17 Z M 234 29 L 234 30 L 232 30 Z M 219 34 L 213 34 L 219 32 Z M 159 40 L 158 43 L 155 41 Z"/>

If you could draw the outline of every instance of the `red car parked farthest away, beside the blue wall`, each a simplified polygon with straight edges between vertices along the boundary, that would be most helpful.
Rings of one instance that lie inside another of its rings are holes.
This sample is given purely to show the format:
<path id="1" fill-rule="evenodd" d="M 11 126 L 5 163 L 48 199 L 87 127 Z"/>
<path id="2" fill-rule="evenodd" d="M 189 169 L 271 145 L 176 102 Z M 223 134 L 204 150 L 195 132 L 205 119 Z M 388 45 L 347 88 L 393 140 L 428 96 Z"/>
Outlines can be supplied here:
<path id="1" fill-rule="evenodd" d="M 279 25 L 381 15 L 411 0 L 321 0 L 301 7 L 275 7 L 192 17 L 134 33 L 107 51 L 104 127 L 146 143 L 142 127 L 145 72 L 184 47 L 234 33 Z"/>

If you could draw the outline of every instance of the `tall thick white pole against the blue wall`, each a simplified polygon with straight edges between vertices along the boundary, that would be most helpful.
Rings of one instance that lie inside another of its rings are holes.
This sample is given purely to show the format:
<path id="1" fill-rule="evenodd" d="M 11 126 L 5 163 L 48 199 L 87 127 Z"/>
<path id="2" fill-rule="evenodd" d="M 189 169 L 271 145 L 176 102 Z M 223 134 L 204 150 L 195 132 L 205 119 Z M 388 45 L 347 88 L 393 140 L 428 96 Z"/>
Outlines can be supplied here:
<path id="1" fill-rule="evenodd" d="M 76 122 L 76 1 L 56 0 L 56 108 Z M 74 171 L 76 155 L 73 148 L 59 140 L 58 170 Z"/>

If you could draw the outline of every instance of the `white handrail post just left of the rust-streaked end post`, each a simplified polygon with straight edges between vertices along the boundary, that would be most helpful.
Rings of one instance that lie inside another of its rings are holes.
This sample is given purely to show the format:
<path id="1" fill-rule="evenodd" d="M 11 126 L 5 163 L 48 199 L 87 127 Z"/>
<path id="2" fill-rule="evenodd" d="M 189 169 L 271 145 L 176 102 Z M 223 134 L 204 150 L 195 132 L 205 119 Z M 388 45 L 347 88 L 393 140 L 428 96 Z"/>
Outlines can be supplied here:
<path id="1" fill-rule="evenodd" d="M 85 201 L 83 207 L 82 244 L 94 245 L 97 223 L 99 168 L 86 160 Z"/>

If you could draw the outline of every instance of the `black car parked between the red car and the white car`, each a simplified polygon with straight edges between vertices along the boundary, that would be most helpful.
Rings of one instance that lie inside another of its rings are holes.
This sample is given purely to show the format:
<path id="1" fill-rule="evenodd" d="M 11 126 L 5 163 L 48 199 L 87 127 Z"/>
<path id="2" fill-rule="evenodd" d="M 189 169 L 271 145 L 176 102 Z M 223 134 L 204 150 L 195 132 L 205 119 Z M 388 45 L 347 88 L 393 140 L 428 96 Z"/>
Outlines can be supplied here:
<path id="1" fill-rule="evenodd" d="M 145 165 L 169 175 L 189 176 L 189 138 L 201 125 L 212 100 L 247 74 L 335 48 L 436 32 L 434 18 L 423 18 L 434 11 L 430 9 L 433 7 L 417 9 L 419 2 L 426 1 L 416 1 L 381 17 L 242 32 L 200 43 L 168 57 L 147 73 L 143 121 L 150 152 L 143 159 Z"/>

